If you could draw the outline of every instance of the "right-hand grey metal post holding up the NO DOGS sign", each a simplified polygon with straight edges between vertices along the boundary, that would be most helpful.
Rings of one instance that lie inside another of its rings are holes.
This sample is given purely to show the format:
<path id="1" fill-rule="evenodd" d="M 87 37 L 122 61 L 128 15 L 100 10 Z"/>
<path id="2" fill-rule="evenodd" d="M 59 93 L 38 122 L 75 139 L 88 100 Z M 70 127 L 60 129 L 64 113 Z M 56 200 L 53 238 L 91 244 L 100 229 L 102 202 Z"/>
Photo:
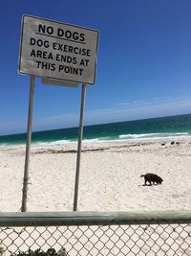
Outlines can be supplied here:
<path id="1" fill-rule="evenodd" d="M 77 145 L 77 160 L 76 160 L 75 182 L 74 182 L 74 208 L 73 208 L 74 211 L 77 210 L 79 169 L 80 169 L 80 158 L 81 158 L 81 142 L 82 142 L 82 137 L 83 137 L 85 97 L 86 97 L 86 84 L 82 84 L 81 108 L 80 108 L 79 131 L 78 131 L 78 145 Z"/>

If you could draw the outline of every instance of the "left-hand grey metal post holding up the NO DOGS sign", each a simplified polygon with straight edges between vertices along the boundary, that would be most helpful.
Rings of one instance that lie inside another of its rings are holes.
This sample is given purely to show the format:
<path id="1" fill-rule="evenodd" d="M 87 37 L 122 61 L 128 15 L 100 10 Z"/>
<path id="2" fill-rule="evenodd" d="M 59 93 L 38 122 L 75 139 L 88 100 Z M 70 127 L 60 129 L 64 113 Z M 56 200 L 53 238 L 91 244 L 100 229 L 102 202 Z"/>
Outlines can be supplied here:
<path id="1" fill-rule="evenodd" d="M 27 212 L 29 163 L 30 163 L 30 151 L 31 151 L 31 140 L 32 140 L 33 93 L 34 93 L 34 76 L 31 76 L 30 102 L 29 102 L 28 128 L 27 128 L 27 145 L 26 145 L 26 154 L 25 154 L 25 171 L 24 171 L 24 178 L 23 178 L 23 197 L 22 197 L 21 212 Z"/>

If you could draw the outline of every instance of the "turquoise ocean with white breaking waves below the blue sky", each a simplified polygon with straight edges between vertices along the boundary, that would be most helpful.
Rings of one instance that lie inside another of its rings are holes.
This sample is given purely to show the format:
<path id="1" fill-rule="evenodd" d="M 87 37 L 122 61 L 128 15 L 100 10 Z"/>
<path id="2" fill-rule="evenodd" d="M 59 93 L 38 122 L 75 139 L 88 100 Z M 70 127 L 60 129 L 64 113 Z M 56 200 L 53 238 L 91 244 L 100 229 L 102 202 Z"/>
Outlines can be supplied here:
<path id="1" fill-rule="evenodd" d="M 84 127 L 83 141 L 179 139 L 191 136 L 191 114 L 118 122 Z M 78 128 L 32 132 L 32 144 L 63 144 L 77 141 Z M 25 145 L 26 133 L 0 136 L 0 146 Z"/>

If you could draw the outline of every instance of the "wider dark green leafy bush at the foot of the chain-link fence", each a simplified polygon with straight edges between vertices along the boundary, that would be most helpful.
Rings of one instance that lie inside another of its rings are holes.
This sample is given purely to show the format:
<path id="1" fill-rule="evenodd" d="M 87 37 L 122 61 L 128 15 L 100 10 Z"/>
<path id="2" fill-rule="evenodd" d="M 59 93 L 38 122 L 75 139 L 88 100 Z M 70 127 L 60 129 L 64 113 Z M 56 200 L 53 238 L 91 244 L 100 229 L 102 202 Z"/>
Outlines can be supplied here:
<path id="1" fill-rule="evenodd" d="M 32 251 L 29 249 L 28 252 L 18 252 L 17 254 L 11 254 L 11 256 L 67 256 L 65 248 L 61 248 L 58 252 L 53 248 L 49 248 L 46 252 L 41 249 L 36 249 Z"/>

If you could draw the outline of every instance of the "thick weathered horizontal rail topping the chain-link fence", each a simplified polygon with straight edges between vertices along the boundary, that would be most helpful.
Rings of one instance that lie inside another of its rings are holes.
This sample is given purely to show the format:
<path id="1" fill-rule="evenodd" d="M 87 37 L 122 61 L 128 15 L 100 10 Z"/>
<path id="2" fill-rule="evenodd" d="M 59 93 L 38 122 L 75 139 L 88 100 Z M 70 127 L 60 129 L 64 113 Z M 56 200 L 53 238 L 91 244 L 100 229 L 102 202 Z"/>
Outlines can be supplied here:
<path id="1" fill-rule="evenodd" d="M 144 212 L 0 213 L 0 226 L 191 223 L 191 210 Z"/>

